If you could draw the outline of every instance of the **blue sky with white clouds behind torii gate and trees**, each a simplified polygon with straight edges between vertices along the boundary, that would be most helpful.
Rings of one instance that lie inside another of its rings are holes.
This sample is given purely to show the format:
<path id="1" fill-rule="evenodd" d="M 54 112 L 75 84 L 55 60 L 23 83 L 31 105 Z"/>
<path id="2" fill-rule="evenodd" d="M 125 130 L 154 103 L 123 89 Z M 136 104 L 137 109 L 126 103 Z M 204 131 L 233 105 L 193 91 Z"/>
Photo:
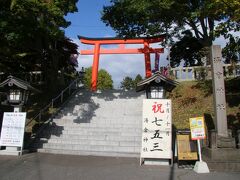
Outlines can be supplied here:
<path id="1" fill-rule="evenodd" d="M 107 27 L 101 21 L 101 11 L 104 5 L 108 5 L 110 0 L 79 0 L 77 3 L 78 12 L 68 14 L 66 19 L 71 21 L 71 25 L 65 29 L 67 37 L 71 38 L 79 45 L 80 49 L 91 48 L 80 44 L 77 35 L 86 37 L 114 37 L 115 32 L 111 27 Z M 217 39 L 214 44 L 225 44 L 224 38 Z M 154 44 L 153 47 L 160 47 Z M 167 50 L 160 57 L 160 66 L 166 66 Z M 151 56 L 154 59 L 154 56 Z M 92 66 L 93 56 L 79 55 L 79 69 L 81 67 Z M 153 60 L 152 60 L 153 65 Z M 107 70 L 114 81 L 114 87 L 118 88 L 124 77 L 130 76 L 135 78 L 137 74 L 144 77 L 144 55 L 101 55 L 99 69 Z"/>

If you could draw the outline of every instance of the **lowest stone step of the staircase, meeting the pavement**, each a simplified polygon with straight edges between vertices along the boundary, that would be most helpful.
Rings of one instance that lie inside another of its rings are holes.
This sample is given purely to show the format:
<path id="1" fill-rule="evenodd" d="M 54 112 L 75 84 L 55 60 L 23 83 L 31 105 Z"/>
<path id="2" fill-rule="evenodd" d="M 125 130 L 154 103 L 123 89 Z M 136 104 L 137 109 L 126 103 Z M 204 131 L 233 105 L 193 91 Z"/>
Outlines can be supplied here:
<path id="1" fill-rule="evenodd" d="M 61 150 L 61 149 L 38 149 L 41 153 L 51 154 L 69 154 L 82 156 L 107 156 L 107 157 L 140 157 L 140 153 L 122 153 L 122 152 L 103 152 L 103 151 L 79 151 L 79 150 Z"/>

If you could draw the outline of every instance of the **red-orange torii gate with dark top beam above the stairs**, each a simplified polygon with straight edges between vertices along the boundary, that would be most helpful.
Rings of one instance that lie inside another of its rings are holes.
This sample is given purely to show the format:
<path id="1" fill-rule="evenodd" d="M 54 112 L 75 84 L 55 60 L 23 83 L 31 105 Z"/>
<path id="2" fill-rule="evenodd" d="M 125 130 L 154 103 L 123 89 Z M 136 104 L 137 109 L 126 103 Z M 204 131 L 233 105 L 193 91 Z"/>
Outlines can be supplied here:
<path id="1" fill-rule="evenodd" d="M 94 45 L 92 50 L 81 50 L 82 55 L 94 55 L 93 56 L 93 67 L 92 67 L 92 81 L 91 89 L 92 91 L 97 90 L 97 79 L 98 79 L 98 66 L 99 66 L 99 56 L 100 54 L 144 54 L 145 57 L 145 73 L 146 77 L 152 75 L 151 72 L 151 60 L 150 53 L 163 53 L 163 48 L 151 48 L 149 45 L 151 43 L 162 42 L 165 35 L 155 36 L 155 37 L 142 37 L 142 38 L 88 38 L 83 36 L 78 36 L 79 40 L 83 44 Z M 118 44 L 118 48 L 114 49 L 101 49 L 101 45 Z M 125 44 L 143 44 L 143 48 L 125 48 Z"/>

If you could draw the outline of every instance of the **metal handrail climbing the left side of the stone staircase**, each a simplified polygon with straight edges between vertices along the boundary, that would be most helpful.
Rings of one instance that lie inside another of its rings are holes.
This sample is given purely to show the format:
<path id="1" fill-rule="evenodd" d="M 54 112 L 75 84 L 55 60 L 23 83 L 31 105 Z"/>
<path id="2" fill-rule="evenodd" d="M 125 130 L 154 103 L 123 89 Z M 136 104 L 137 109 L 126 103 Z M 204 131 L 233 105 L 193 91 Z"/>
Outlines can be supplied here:
<path id="1" fill-rule="evenodd" d="M 59 95 L 57 95 L 55 98 L 53 98 L 49 104 L 47 104 L 45 107 L 43 107 L 36 116 L 34 116 L 32 119 L 30 119 L 26 123 L 26 125 L 29 125 L 34 120 L 37 122 L 41 122 L 43 115 L 46 113 L 49 113 L 49 111 L 51 111 L 51 110 L 52 110 L 52 112 L 50 112 L 51 115 L 56 114 L 58 112 L 58 110 L 60 109 L 61 105 L 63 104 L 64 95 L 66 93 L 68 93 L 68 96 L 70 96 L 71 93 L 73 94 L 75 91 L 72 91 L 72 90 L 76 90 L 79 87 L 79 83 L 80 83 L 79 78 L 74 80 L 73 82 L 71 82 L 68 85 L 68 87 L 66 87 L 64 90 L 61 91 L 61 93 Z M 54 106 L 54 105 L 56 105 L 56 106 Z M 56 108 L 56 110 L 54 110 L 54 108 Z"/>

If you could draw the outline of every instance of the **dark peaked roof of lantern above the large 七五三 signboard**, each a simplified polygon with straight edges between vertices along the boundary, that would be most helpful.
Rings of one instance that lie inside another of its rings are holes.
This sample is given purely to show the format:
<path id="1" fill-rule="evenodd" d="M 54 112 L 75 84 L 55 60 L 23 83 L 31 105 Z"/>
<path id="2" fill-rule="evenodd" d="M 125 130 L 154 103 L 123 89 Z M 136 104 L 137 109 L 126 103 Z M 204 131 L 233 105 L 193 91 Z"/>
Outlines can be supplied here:
<path id="1" fill-rule="evenodd" d="M 158 82 L 159 81 L 159 82 Z M 174 81 L 164 75 L 162 75 L 159 71 L 153 74 L 151 77 L 146 78 L 140 81 L 137 84 L 136 91 L 144 91 L 150 86 L 163 86 L 163 88 L 169 92 L 171 92 L 179 82 Z"/>

